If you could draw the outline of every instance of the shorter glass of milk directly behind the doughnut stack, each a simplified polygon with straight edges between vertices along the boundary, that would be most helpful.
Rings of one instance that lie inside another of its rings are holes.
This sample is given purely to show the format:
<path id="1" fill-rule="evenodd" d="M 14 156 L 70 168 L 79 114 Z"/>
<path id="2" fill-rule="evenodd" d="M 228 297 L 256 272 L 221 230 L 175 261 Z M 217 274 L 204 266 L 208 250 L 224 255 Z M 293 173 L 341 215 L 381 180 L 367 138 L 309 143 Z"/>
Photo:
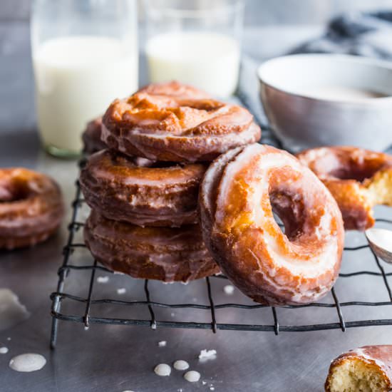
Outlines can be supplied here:
<path id="1" fill-rule="evenodd" d="M 145 0 L 150 82 L 227 98 L 237 88 L 244 1 Z"/>

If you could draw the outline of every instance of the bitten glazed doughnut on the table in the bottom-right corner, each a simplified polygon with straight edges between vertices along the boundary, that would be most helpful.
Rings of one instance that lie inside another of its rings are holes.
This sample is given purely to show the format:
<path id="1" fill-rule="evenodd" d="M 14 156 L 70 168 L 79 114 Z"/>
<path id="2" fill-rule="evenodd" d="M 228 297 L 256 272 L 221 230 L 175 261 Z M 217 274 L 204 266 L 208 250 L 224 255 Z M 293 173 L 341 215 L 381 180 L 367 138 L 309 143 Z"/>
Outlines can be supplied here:
<path id="1" fill-rule="evenodd" d="M 388 392 L 392 390 L 392 346 L 364 346 L 332 361 L 326 392 Z"/>

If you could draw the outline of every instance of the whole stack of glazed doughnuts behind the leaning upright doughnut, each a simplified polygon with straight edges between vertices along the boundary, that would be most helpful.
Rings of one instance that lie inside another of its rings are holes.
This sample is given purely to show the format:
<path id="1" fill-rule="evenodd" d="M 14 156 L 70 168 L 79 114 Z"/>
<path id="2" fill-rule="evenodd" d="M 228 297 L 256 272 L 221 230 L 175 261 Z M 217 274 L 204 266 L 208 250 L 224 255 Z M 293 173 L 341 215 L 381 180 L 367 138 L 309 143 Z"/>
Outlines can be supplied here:
<path id="1" fill-rule="evenodd" d="M 218 155 L 260 135 L 244 108 L 176 82 L 115 100 L 83 135 L 86 152 L 98 151 L 80 177 L 93 256 L 112 270 L 163 282 L 219 272 L 198 223 L 200 182 Z"/>

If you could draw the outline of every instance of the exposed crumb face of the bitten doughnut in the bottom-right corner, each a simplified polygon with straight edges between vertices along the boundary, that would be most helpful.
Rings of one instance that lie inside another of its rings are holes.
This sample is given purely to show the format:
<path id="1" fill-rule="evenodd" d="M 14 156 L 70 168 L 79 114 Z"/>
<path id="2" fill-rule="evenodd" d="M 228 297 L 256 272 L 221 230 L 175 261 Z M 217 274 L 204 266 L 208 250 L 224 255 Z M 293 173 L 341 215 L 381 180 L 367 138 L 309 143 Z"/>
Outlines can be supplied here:
<path id="1" fill-rule="evenodd" d="M 329 392 L 388 391 L 383 372 L 373 363 L 349 358 L 334 366 L 329 376 Z"/>

